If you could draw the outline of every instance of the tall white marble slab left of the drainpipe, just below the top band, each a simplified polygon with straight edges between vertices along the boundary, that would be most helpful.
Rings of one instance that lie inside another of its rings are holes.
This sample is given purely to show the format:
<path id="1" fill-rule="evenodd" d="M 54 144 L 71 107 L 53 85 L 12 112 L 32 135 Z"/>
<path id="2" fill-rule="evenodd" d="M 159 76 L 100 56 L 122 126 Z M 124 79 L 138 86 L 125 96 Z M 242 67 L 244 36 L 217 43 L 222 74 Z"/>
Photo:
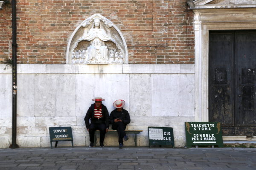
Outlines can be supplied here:
<path id="1" fill-rule="evenodd" d="M 12 116 L 12 74 L 0 74 L 0 117 Z"/>

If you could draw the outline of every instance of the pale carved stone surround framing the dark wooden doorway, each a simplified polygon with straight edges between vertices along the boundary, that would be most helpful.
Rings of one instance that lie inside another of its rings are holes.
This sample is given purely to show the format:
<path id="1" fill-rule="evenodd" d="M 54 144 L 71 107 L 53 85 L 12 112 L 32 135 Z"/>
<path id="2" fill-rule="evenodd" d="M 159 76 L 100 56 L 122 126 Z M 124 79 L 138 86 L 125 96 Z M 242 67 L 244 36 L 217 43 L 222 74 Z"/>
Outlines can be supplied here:
<path id="1" fill-rule="evenodd" d="M 188 5 L 195 14 L 195 120 L 208 122 L 209 31 L 256 30 L 256 0 L 195 0 Z M 239 140 L 256 140 L 249 138 Z"/>

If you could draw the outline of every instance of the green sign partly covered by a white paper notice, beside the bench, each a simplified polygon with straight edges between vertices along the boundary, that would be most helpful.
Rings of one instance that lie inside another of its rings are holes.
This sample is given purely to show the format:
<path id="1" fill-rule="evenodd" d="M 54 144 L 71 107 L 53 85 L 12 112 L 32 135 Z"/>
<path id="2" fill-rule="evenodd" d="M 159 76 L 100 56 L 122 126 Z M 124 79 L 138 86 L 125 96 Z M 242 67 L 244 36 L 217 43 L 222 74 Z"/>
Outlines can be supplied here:
<path id="1" fill-rule="evenodd" d="M 148 127 L 149 147 L 151 145 L 172 145 L 174 137 L 172 127 Z"/>

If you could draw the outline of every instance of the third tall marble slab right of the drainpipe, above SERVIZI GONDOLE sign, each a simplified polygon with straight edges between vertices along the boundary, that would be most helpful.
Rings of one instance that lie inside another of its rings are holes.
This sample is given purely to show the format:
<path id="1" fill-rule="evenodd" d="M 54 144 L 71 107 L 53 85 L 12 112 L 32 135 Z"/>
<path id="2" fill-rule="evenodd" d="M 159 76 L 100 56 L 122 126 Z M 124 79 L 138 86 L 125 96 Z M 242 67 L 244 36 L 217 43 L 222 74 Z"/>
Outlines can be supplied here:
<path id="1" fill-rule="evenodd" d="M 75 75 L 56 75 L 56 116 L 75 116 Z"/>

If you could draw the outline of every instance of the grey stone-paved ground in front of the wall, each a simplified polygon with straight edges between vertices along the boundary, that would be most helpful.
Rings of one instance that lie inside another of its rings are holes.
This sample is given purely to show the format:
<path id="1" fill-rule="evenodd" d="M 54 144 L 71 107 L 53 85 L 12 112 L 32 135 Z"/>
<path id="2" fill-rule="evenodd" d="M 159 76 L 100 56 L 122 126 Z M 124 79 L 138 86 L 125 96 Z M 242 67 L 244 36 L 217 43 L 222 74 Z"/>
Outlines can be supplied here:
<path id="1" fill-rule="evenodd" d="M 256 148 L 0 149 L 0 170 L 256 170 Z"/>

